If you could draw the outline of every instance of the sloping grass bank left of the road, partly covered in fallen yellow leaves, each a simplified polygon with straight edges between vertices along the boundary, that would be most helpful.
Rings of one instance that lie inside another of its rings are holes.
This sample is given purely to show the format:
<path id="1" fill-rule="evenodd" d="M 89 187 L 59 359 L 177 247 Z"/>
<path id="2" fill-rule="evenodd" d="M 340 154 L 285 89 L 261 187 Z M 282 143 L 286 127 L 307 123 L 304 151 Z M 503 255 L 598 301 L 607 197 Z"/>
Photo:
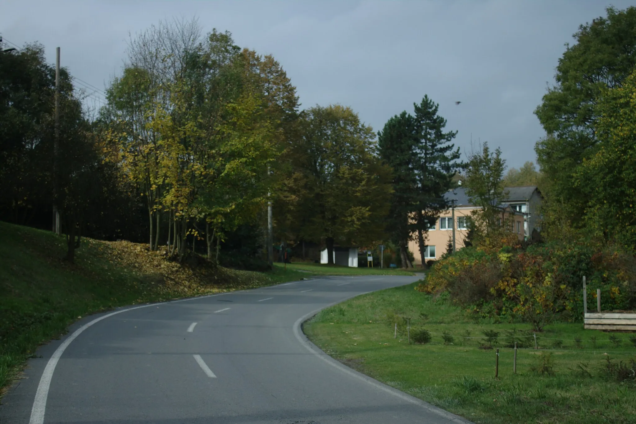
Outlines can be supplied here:
<path id="1" fill-rule="evenodd" d="M 185 265 L 143 244 L 84 239 L 75 264 L 51 232 L 0 222 L 0 395 L 40 344 L 81 316 L 113 307 L 242 290 L 306 278 L 306 272 Z"/>

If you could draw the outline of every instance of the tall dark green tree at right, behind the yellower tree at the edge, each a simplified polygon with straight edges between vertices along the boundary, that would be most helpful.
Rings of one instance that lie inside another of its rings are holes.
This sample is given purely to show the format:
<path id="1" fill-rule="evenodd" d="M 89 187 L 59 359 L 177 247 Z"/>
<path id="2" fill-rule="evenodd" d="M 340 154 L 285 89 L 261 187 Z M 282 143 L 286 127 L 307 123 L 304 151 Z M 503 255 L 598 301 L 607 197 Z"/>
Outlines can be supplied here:
<path id="1" fill-rule="evenodd" d="M 607 8 L 607 17 L 580 25 L 577 43 L 566 45 L 556 67 L 556 85 L 548 88 L 535 111 L 548 133 L 536 145 L 545 194 L 562 204 L 576 227 L 583 225 L 585 196 L 575 184 L 577 169 L 598 143 L 595 105 L 604 88 L 621 87 L 636 65 L 636 8 Z"/>

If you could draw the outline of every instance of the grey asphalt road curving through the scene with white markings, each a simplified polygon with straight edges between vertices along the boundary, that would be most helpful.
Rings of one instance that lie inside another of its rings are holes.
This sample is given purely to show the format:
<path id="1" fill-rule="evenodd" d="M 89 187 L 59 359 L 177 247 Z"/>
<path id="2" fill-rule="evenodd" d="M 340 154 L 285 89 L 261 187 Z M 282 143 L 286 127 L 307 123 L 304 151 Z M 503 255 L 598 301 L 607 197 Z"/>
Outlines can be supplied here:
<path id="1" fill-rule="evenodd" d="M 302 333 L 323 307 L 414 280 L 326 277 L 88 316 L 38 350 L 0 423 L 467 423 Z"/>

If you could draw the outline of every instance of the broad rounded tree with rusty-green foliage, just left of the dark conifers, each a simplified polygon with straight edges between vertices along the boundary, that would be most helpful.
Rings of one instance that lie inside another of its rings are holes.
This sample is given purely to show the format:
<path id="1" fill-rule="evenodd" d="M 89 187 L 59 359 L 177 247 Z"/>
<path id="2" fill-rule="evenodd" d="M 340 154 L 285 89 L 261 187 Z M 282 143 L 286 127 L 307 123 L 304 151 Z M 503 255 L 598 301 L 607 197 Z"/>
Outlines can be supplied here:
<path id="1" fill-rule="evenodd" d="M 306 216 L 300 236 L 325 241 L 329 264 L 338 244 L 379 239 L 389 208 L 389 168 L 375 152 L 373 131 L 350 108 L 315 106 L 303 114 L 294 146 L 300 183 L 296 216 Z"/>

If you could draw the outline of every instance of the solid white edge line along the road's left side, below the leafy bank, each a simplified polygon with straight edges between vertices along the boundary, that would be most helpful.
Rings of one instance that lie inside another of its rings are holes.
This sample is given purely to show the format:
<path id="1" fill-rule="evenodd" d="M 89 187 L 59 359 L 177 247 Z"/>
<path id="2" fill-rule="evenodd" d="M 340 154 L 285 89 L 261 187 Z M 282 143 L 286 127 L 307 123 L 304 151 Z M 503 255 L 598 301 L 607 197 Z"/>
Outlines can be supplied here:
<path id="1" fill-rule="evenodd" d="M 46 363 L 46 367 L 44 369 L 44 372 L 42 372 L 42 376 L 38 383 L 38 390 L 36 391 L 35 399 L 33 400 L 33 407 L 31 408 L 31 418 L 29 418 L 29 424 L 44 424 L 44 415 L 46 412 L 46 399 L 48 398 L 48 389 L 51 386 L 51 379 L 53 378 L 53 371 L 55 371 L 57 362 L 60 360 L 62 353 L 64 353 L 64 351 L 69 346 L 69 344 L 71 344 L 71 342 L 73 342 L 76 339 L 76 337 L 78 337 L 84 330 L 88 329 L 88 327 L 90 327 L 94 323 L 100 322 L 101 320 L 104 320 L 105 318 L 108 318 L 109 316 L 120 314 L 122 312 L 132 311 L 134 309 L 139 309 L 141 307 L 165 305 L 165 304 L 170 304 L 175 302 L 185 302 L 186 300 L 205 299 L 206 297 L 221 296 L 221 295 L 226 295 L 230 293 L 234 293 L 234 292 L 218 293 L 218 294 L 198 296 L 198 297 L 189 297 L 188 299 L 170 300 L 169 302 L 158 302 L 158 303 L 151 303 L 147 305 L 128 307 L 127 309 L 121 309 L 120 311 L 114 311 L 104 316 L 100 316 L 99 318 L 95 318 L 91 322 L 82 325 L 81 327 L 79 327 L 79 329 L 75 330 L 73 334 L 71 334 L 71 336 L 69 336 L 64 342 L 62 342 L 60 346 L 57 347 L 55 352 L 53 352 L 53 355 L 51 356 L 51 358 Z"/>

